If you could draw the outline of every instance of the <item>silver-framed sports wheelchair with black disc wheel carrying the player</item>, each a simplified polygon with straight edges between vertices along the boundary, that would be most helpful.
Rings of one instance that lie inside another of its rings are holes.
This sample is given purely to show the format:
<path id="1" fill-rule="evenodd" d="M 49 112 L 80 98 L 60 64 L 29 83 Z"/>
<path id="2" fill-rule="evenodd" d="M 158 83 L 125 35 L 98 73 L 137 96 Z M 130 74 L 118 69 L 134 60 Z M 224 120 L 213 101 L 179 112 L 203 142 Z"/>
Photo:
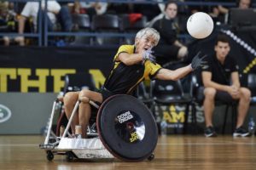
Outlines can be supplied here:
<path id="1" fill-rule="evenodd" d="M 64 93 L 71 90 L 69 89 L 72 85 L 71 79 L 75 80 L 76 78 L 79 80 L 87 78 L 88 88 L 95 88 L 90 74 L 67 75 Z M 77 88 L 77 90 L 79 89 Z M 126 94 L 113 95 L 101 105 L 90 101 L 90 105 L 96 108 L 96 117 L 92 117 L 90 120 L 90 126 L 87 129 L 88 139 L 73 139 L 69 138 L 71 136 L 69 127 L 74 114 L 79 109 L 79 103 L 80 101 L 77 101 L 67 122 L 67 127 L 60 135 L 60 132 L 53 132 L 52 124 L 56 105 L 63 104 L 59 99 L 55 100 L 44 144 L 39 144 L 39 147 L 46 151 L 49 161 L 54 159 L 54 155 L 66 155 L 67 161 L 72 161 L 75 158 L 113 159 L 114 157 L 123 161 L 143 161 L 146 158 L 151 161 L 154 159 L 153 152 L 158 139 L 157 127 L 154 116 L 142 101 Z M 64 116 L 62 108 L 60 119 L 63 119 Z M 60 123 L 59 120 L 56 131 L 61 127 Z"/>

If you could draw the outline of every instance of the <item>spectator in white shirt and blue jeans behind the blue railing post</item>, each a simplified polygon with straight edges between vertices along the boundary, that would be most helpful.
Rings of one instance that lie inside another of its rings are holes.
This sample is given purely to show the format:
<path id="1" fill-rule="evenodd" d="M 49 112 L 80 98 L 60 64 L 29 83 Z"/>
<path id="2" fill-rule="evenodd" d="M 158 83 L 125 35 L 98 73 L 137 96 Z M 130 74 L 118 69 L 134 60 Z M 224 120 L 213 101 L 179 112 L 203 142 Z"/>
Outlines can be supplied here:
<path id="1" fill-rule="evenodd" d="M 44 16 L 44 0 L 41 2 L 42 12 Z M 39 11 L 39 3 L 38 2 L 29 2 L 26 3 L 25 7 L 23 8 L 20 19 L 19 19 L 19 33 L 24 33 L 25 23 L 26 19 L 29 17 L 32 17 L 32 22 L 34 26 L 34 31 L 36 32 L 38 30 L 38 11 Z M 44 19 L 44 17 L 43 17 Z M 47 3 L 47 27 L 49 31 L 53 31 L 55 28 L 55 25 L 57 23 L 57 20 L 61 24 L 61 30 L 62 31 L 71 31 L 72 30 L 72 19 L 70 16 L 70 13 L 68 11 L 68 8 L 66 6 L 61 7 L 59 3 L 56 1 L 48 1 Z M 24 37 L 16 37 L 16 42 L 20 42 L 20 45 L 25 45 L 24 43 Z"/>

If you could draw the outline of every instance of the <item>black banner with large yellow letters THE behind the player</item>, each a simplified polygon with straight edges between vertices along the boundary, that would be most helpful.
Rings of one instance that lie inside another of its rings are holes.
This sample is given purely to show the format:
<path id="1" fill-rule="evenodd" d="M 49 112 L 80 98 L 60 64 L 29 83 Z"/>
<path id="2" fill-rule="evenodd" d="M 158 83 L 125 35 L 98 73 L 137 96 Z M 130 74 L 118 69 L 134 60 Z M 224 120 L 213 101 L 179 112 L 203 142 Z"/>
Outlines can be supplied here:
<path id="1" fill-rule="evenodd" d="M 0 93 L 54 92 L 66 74 L 89 71 L 99 85 L 117 48 L 0 48 Z"/>

